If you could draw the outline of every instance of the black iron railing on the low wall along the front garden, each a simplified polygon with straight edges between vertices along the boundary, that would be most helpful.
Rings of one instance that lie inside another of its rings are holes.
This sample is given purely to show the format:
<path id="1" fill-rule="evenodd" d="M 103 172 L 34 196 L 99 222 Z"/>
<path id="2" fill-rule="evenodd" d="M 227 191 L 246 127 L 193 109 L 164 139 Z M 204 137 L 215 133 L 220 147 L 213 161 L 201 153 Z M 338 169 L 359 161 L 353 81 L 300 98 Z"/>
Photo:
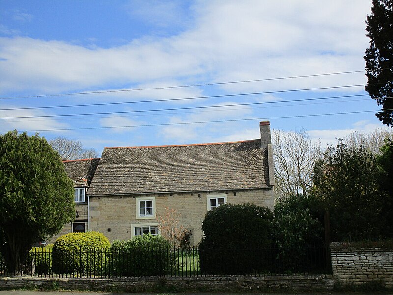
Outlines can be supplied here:
<path id="1" fill-rule="evenodd" d="M 205 249 L 206 250 L 206 249 Z M 304 249 L 144 248 L 56 252 L 33 248 L 10 273 L 0 259 L 0 276 L 117 278 L 143 276 L 282 275 L 329 273 L 326 246 Z"/>

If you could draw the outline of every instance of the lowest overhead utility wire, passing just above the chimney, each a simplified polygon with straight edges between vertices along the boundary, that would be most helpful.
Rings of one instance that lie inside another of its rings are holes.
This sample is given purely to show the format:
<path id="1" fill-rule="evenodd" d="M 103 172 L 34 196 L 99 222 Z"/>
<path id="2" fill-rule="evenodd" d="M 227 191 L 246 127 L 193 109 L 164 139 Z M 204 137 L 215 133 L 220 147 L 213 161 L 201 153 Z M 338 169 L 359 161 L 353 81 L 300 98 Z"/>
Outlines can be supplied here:
<path id="1" fill-rule="evenodd" d="M 328 114 L 311 114 L 311 115 L 298 115 L 298 116 L 282 116 L 282 117 L 270 117 L 270 118 L 249 118 L 249 119 L 218 120 L 218 121 L 201 121 L 201 122 L 130 125 L 130 126 L 62 128 L 62 129 L 44 129 L 44 130 L 23 130 L 23 131 L 20 131 L 20 132 L 48 132 L 48 131 L 65 131 L 65 130 L 94 130 L 94 129 L 115 129 L 115 128 L 118 129 L 118 128 L 131 128 L 131 127 L 157 127 L 157 126 L 174 126 L 174 125 L 192 125 L 192 124 L 206 124 L 206 123 L 254 121 L 254 120 L 266 120 L 266 119 L 305 118 L 305 117 L 332 116 L 332 115 L 348 115 L 348 114 L 360 114 L 360 113 L 370 113 L 370 112 L 378 112 L 378 111 L 380 111 L 380 110 L 343 112 L 343 113 L 328 113 Z M 384 110 L 384 111 L 391 111 L 391 110 Z M 5 132 L 7 132 L 7 131 L 0 131 L 0 133 L 5 133 Z"/>

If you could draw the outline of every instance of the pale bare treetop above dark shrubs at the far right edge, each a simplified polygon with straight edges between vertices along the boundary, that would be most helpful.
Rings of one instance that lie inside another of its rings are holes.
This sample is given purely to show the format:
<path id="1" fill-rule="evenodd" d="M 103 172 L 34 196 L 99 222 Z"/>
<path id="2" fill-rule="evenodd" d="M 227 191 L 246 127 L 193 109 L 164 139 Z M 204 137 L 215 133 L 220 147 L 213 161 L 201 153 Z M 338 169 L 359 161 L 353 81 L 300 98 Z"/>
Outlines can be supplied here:
<path id="1" fill-rule="evenodd" d="M 379 148 L 385 144 L 385 139 L 393 139 L 393 130 L 377 128 L 371 132 L 365 133 L 361 131 L 351 132 L 343 138 L 343 142 L 349 148 L 358 148 L 362 146 L 366 151 L 374 155 L 380 153 Z"/>

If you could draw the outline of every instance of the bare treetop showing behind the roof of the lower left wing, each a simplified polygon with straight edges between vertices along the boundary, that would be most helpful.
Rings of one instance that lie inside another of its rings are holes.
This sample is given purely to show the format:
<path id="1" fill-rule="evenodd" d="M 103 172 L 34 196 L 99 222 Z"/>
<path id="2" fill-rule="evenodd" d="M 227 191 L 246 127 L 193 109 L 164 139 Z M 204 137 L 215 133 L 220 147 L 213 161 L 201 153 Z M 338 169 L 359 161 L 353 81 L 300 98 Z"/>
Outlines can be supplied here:
<path id="1" fill-rule="evenodd" d="M 82 143 L 66 137 L 51 139 L 49 144 L 62 158 L 67 160 L 98 158 L 99 154 L 94 148 L 84 148 Z"/>

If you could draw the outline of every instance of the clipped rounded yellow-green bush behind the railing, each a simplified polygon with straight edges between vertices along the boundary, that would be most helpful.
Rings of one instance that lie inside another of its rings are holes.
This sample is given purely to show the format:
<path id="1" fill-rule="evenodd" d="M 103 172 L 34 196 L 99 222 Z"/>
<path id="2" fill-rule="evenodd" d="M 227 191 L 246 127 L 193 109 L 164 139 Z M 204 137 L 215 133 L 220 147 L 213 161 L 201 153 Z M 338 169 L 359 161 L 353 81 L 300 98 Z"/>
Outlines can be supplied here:
<path id="1" fill-rule="evenodd" d="M 60 236 L 53 245 L 53 271 L 102 274 L 110 246 L 108 238 L 98 232 Z"/>

